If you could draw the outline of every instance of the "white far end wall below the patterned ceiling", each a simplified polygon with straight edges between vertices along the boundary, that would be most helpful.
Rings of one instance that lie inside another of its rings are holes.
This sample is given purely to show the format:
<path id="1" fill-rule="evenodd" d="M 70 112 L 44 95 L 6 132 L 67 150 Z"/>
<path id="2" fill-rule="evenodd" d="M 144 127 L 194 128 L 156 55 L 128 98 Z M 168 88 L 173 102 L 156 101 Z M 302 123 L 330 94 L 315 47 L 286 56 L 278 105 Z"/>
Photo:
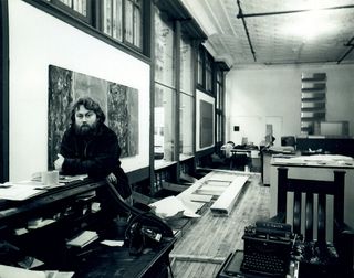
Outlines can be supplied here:
<path id="1" fill-rule="evenodd" d="M 300 135 L 303 72 L 326 73 L 326 120 L 348 120 L 353 136 L 354 65 L 236 67 L 226 76 L 226 141 L 247 137 L 259 145 L 267 124 L 273 124 L 275 146 L 281 136 Z"/>

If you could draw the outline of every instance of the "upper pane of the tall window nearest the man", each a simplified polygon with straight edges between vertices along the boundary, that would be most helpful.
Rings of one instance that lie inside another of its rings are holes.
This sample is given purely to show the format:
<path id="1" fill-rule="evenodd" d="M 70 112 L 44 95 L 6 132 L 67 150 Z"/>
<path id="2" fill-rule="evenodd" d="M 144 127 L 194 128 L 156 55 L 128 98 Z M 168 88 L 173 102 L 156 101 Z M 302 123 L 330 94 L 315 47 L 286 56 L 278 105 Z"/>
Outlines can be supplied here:
<path id="1" fill-rule="evenodd" d="M 162 20 L 162 13 L 155 9 L 155 79 L 175 87 L 174 74 L 174 29 L 170 22 Z"/>

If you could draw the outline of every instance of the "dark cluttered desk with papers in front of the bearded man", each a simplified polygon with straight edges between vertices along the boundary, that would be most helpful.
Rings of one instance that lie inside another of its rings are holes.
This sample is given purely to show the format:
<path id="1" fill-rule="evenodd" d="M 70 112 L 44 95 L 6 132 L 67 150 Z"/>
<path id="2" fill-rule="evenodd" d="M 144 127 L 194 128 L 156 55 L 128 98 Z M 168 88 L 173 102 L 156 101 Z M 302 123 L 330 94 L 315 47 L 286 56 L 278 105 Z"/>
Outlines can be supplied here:
<path id="1" fill-rule="evenodd" d="M 74 271 L 75 278 L 167 277 L 168 255 L 175 238 L 163 235 L 159 244 L 148 244 L 142 255 L 129 255 L 126 226 L 117 221 L 127 207 L 114 197 L 105 181 L 88 179 L 51 189 L 23 202 L 0 200 L 0 238 L 18 248 L 12 250 L 17 256 L 9 256 L 0 245 L 0 264 L 18 266 L 22 256 L 30 256 L 44 263 L 37 270 Z M 133 218 L 139 215 L 133 209 L 131 213 Z M 143 225 L 159 223 L 156 216 L 145 218 L 145 215 L 139 217 Z M 52 222 L 29 227 L 29 221 L 41 218 Z M 67 246 L 66 242 L 83 229 L 95 231 L 98 240 L 82 248 Z M 101 244 L 103 239 L 124 240 L 124 245 L 105 246 Z"/>

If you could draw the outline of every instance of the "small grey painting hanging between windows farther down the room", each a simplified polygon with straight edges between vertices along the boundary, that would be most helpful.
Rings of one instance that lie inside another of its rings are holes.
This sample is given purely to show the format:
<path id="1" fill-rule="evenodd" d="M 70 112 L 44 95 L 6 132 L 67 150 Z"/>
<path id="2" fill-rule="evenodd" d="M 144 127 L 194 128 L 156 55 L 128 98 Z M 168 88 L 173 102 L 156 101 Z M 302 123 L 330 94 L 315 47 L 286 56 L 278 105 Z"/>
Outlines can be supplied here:
<path id="1" fill-rule="evenodd" d="M 200 148 L 209 147 L 214 143 L 214 106 L 200 99 Z"/>

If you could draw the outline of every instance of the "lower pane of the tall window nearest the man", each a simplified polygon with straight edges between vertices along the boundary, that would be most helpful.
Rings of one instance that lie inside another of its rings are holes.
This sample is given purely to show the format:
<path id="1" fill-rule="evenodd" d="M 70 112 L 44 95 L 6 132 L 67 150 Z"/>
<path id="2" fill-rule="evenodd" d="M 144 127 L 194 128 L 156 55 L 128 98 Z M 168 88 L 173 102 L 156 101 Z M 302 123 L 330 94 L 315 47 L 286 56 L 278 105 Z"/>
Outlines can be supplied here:
<path id="1" fill-rule="evenodd" d="M 174 161 L 176 92 L 156 84 L 155 86 L 155 158 Z"/>

